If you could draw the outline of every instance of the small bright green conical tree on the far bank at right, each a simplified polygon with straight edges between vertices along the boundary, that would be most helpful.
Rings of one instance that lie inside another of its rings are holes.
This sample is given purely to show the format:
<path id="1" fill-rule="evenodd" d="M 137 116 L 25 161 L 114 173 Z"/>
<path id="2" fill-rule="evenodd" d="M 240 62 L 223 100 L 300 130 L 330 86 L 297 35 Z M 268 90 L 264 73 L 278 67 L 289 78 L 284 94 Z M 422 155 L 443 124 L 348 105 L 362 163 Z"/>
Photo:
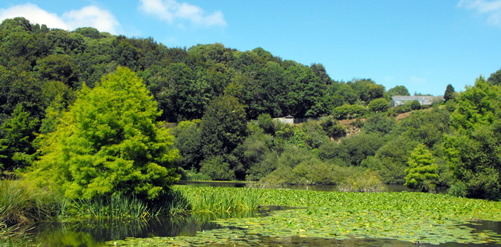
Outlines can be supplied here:
<path id="1" fill-rule="evenodd" d="M 409 168 L 405 169 L 405 185 L 409 188 L 419 188 L 423 191 L 434 191 L 437 180 L 437 165 L 435 158 L 424 144 L 419 144 L 409 157 Z"/>

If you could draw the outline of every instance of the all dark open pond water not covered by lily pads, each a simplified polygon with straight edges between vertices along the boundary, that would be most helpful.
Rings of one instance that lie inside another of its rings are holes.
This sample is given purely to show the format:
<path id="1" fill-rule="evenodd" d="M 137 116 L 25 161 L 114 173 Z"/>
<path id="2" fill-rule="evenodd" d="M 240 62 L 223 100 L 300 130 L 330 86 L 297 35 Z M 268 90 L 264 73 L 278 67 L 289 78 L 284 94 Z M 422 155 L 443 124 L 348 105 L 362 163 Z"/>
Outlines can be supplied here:
<path id="1" fill-rule="evenodd" d="M 220 186 L 220 187 L 255 187 L 248 183 L 228 182 L 193 182 L 182 181 L 180 184 L 189 186 Z M 333 186 L 294 186 L 290 189 L 314 189 L 320 191 L 335 191 Z M 389 186 L 387 191 L 408 191 L 406 187 Z M 246 215 L 217 215 L 217 217 L 264 217 L 274 210 L 284 210 L 284 207 L 264 207 L 257 213 Z M 175 237 L 194 236 L 200 231 L 221 228 L 212 222 L 214 215 L 189 215 L 187 217 L 173 217 L 124 224 L 122 222 L 72 222 L 58 224 L 38 224 L 30 231 L 34 246 L 106 246 L 105 242 L 127 237 Z M 469 225 L 473 231 L 493 231 L 501 234 L 501 222 L 477 221 Z M 394 239 L 323 239 L 315 237 L 265 237 L 253 236 L 253 241 L 246 243 L 248 246 L 436 246 L 431 244 L 418 244 L 402 242 Z M 497 246 L 495 244 L 458 244 L 447 243 L 439 246 Z"/>

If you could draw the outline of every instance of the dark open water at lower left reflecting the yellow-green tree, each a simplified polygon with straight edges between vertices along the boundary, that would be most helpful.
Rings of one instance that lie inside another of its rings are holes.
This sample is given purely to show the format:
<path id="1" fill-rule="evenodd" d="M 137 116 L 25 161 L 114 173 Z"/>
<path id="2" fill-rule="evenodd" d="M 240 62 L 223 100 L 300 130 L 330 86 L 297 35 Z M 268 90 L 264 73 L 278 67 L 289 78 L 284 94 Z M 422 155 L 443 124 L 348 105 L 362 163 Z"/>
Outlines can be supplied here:
<path id="1" fill-rule="evenodd" d="M 104 242 L 126 237 L 194 236 L 197 231 L 219 228 L 216 219 L 255 217 L 257 212 L 239 214 L 191 214 L 153 220 L 86 221 L 35 226 L 34 241 L 41 246 L 103 246 Z"/>

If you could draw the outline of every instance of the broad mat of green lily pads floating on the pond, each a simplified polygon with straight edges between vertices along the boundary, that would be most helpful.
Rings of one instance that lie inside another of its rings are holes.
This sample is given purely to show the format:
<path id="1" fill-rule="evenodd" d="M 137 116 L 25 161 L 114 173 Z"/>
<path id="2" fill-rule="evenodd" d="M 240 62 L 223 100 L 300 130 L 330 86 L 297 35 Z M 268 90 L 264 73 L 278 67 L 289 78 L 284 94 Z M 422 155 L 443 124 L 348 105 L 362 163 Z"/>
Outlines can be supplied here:
<path id="1" fill-rule="evenodd" d="M 181 188 L 184 189 L 184 188 Z M 202 190 L 193 189 L 191 193 Z M 241 193 L 243 188 L 204 187 L 204 193 Z M 431 193 L 343 193 L 290 189 L 258 189 L 258 204 L 303 207 L 275 211 L 266 217 L 217 220 L 231 226 L 198 233 L 195 237 L 131 239 L 117 244 L 151 246 L 160 242 L 173 246 L 212 243 L 259 245 L 259 236 L 321 237 L 330 239 L 379 238 L 409 243 L 501 244 L 490 231 L 467 226 L 478 220 L 501 221 L 501 202 L 456 198 Z M 259 235 L 258 235 L 259 234 Z M 238 237 L 240 236 L 240 237 Z"/>

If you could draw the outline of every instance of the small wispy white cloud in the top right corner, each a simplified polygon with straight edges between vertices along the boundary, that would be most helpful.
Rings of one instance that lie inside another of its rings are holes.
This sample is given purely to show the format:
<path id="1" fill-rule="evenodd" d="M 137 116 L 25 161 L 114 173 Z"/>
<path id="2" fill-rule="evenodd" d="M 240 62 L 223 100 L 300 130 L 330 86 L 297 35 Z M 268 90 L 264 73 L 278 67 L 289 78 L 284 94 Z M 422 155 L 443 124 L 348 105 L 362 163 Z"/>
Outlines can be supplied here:
<path id="1" fill-rule="evenodd" d="M 487 15 L 489 24 L 501 27 L 501 0 L 460 0 L 458 7 Z"/>

